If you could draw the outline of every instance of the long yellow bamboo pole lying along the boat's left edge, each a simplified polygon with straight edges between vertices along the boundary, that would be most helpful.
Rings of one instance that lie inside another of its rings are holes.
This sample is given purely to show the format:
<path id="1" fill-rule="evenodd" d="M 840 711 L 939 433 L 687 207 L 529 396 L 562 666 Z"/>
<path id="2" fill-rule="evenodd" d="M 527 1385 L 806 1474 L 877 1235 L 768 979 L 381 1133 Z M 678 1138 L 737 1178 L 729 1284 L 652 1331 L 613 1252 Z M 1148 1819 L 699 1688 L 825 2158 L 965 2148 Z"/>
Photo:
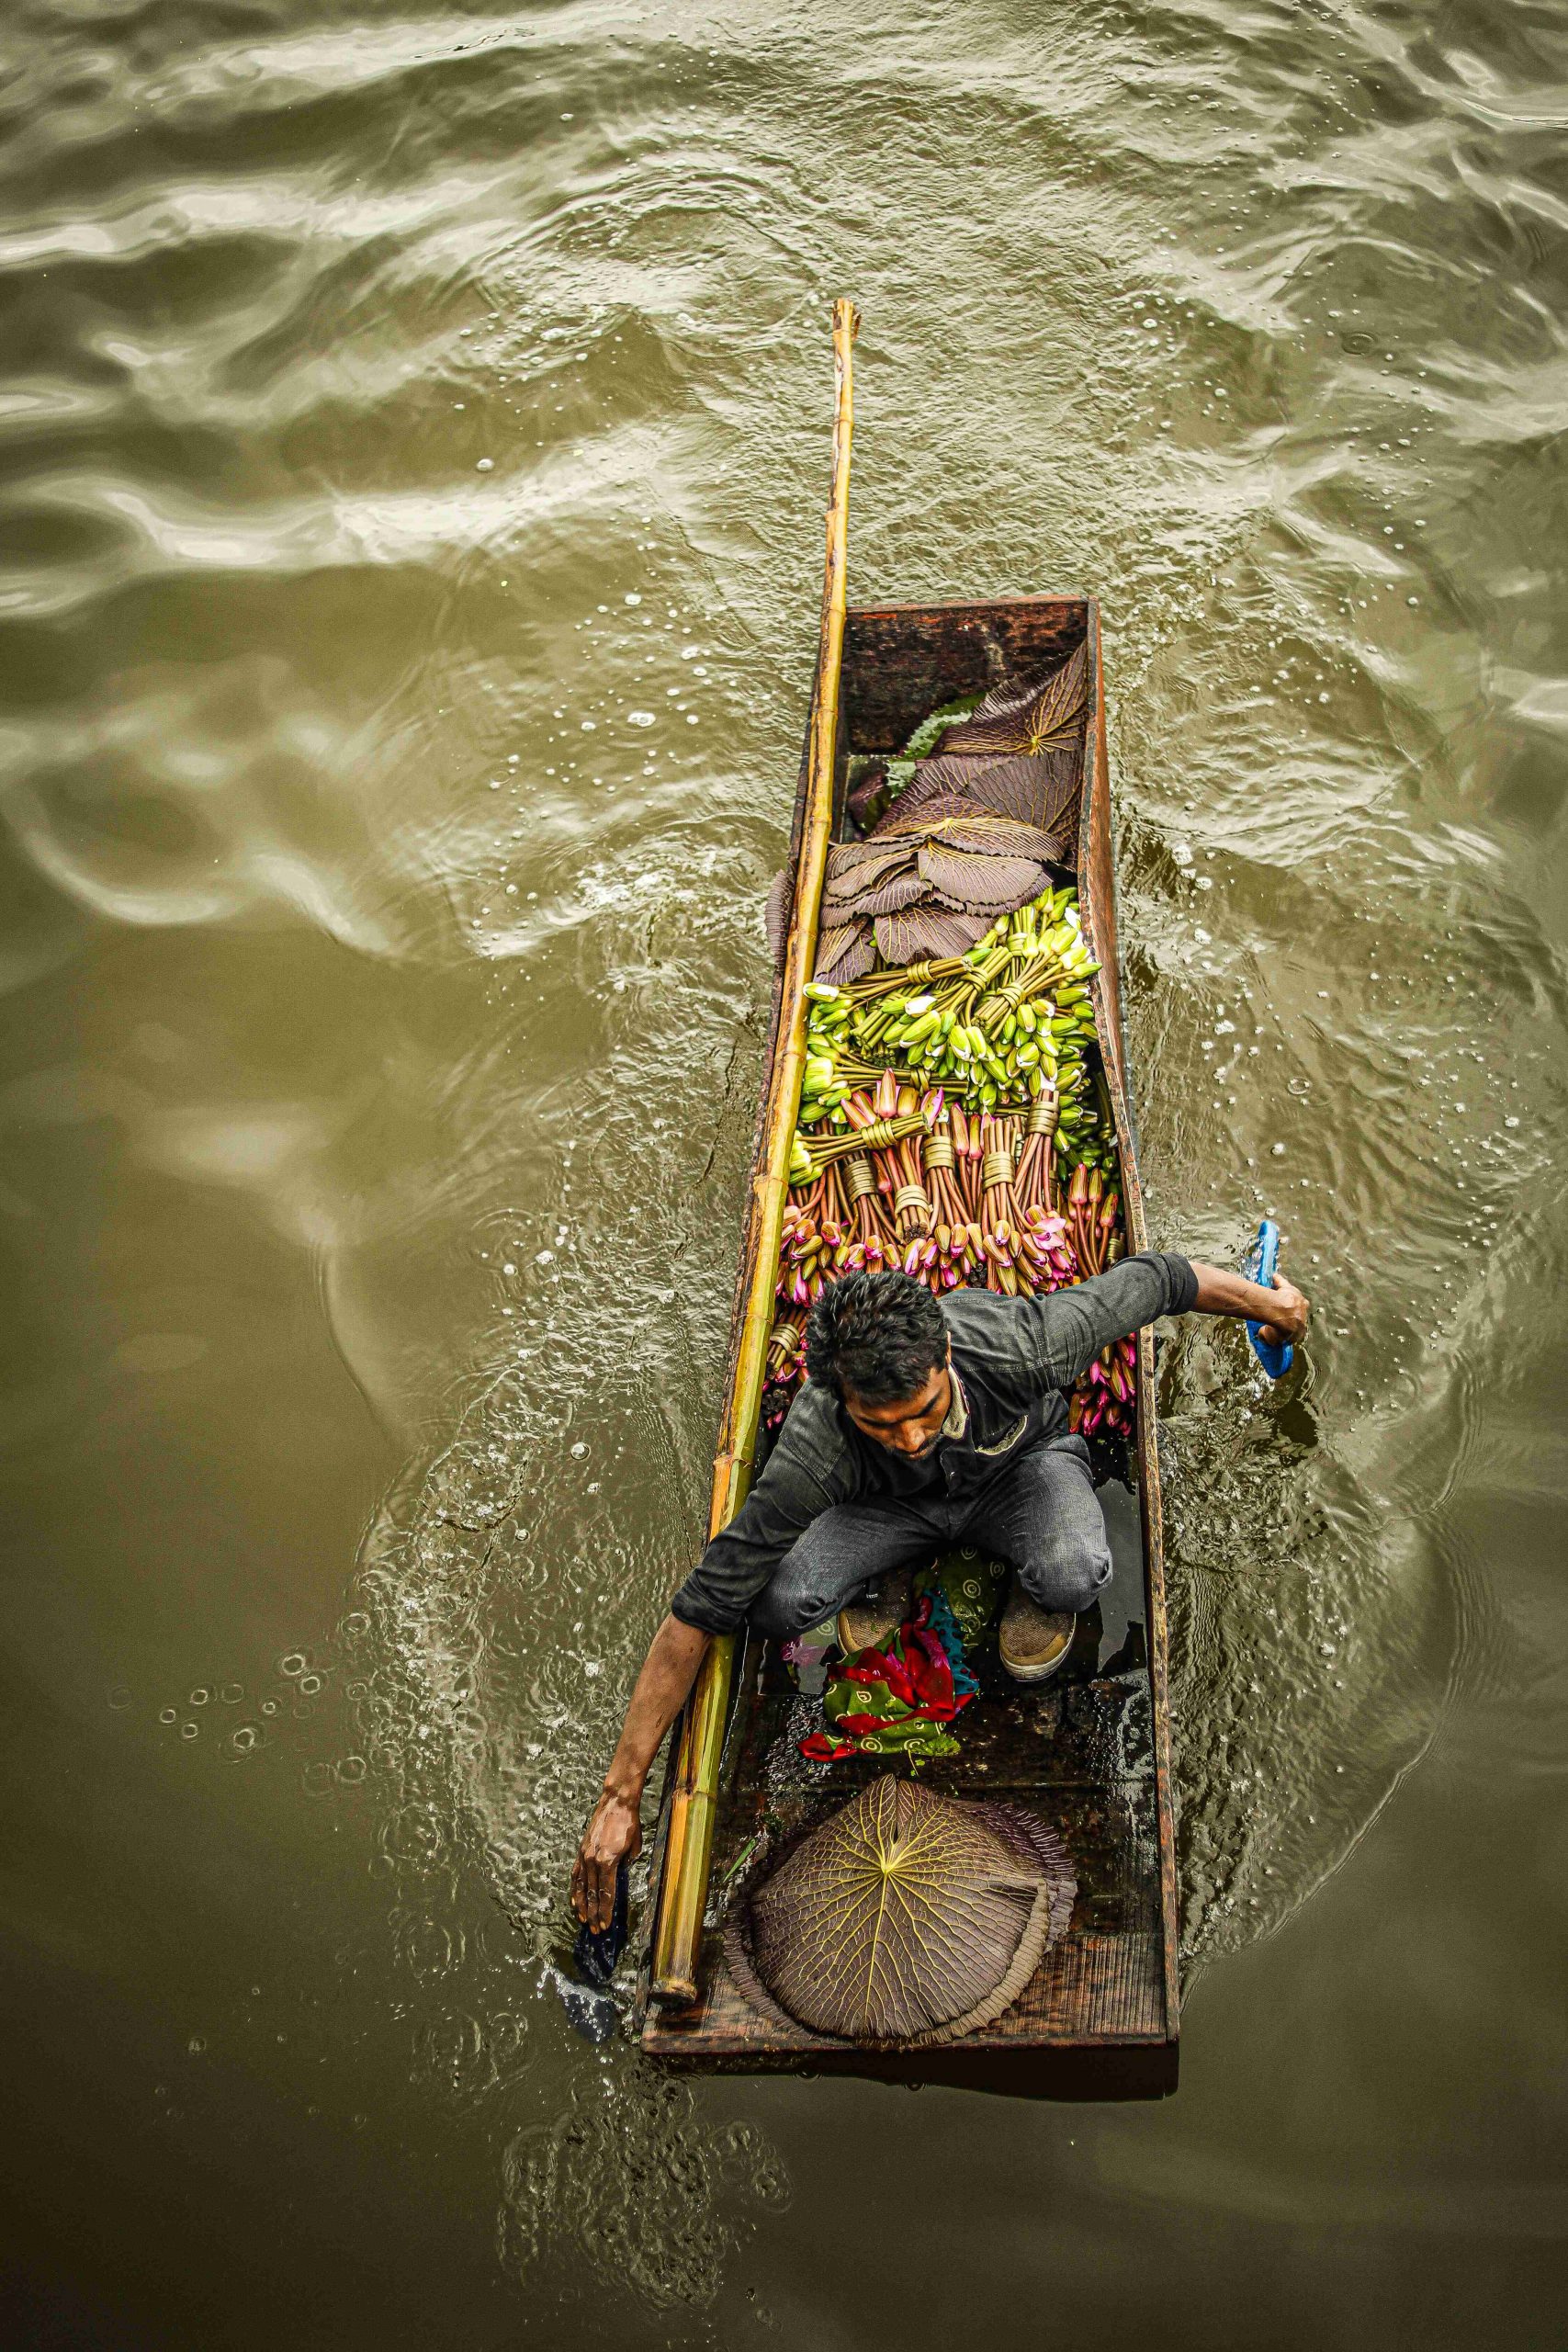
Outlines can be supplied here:
<path id="1" fill-rule="evenodd" d="M 745 1501 L 752 1479 L 757 1414 L 762 1409 L 762 1374 L 769 1329 L 773 1324 L 773 1282 L 783 1209 L 790 1190 L 790 1141 L 799 1110 L 799 1084 L 806 1068 L 806 981 L 816 962 L 816 917 L 827 870 L 832 833 L 832 779 L 839 727 L 839 670 L 844 661 L 844 560 L 849 543 L 849 442 L 856 421 L 851 346 L 860 332 L 860 313 L 849 301 L 832 306 L 835 428 L 832 487 L 827 494 L 827 560 L 823 569 L 823 621 L 816 652 L 816 687 L 811 694 L 811 739 L 806 748 L 806 816 L 795 866 L 795 908 L 778 995 L 778 1037 L 762 1129 L 762 1155 L 752 1176 L 748 1216 L 748 1289 L 741 1319 L 736 1374 L 719 1423 L 719 1451 L 712 1465 L 710 1536 L 729 1526 Z M 708 1870 L 712 1863 L 712 1828 L 719 1799 L 719 1762 L 724 1722 L 736 1672 L 736 1644 L 722 1635 L 708 1646 L 696 1686 L 677 1726 L 675 1785 L 665 1830 L 665 1865 L 658 1882 L 658 1917 L 654 1922 L 654 1971 L 649 1994 L 665 2004 L 696 2002 L 696 1964 L 708 1905 Z"/>

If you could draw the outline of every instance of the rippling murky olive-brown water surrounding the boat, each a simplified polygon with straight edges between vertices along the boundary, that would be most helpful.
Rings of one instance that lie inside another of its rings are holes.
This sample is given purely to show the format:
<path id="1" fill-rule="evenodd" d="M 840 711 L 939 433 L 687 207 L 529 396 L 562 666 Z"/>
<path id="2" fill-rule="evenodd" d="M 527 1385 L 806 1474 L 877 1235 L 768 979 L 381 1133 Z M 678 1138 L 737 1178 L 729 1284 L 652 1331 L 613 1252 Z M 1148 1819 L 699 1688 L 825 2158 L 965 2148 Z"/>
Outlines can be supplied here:
<path id="1" fill-rule="evenodd" d="M 16 2345 L 1563 2340 L 1561 9 L 16 0 Z M 698 1534 L 851 593 L 1105 600 L 1159 2107 L 665 2084 L 562 1860 Z M 875 2321 L 867 2319 L 875 2310 Z"/>

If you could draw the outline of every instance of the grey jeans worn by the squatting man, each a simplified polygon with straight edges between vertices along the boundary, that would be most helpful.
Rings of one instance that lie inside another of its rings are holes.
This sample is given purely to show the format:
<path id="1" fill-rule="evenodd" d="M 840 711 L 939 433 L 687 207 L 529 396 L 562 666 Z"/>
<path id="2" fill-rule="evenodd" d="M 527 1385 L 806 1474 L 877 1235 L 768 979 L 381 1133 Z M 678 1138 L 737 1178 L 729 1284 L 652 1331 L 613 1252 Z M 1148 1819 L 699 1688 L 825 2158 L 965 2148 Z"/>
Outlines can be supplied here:
<path id="1" fill-rule="evenodd" d="M 1009 1559 L 1041 1609 L 1088 1609 L 1110 1583 L 1110 1543 L 1084 1439 L 1032 1446 L 978 1498 L 933 1486 L 820 1512 L 752 1602 L 750 1623 L 780 1642 L 835 1616 L 889 1569 L 926 1566 L 961 1543 Z"/>

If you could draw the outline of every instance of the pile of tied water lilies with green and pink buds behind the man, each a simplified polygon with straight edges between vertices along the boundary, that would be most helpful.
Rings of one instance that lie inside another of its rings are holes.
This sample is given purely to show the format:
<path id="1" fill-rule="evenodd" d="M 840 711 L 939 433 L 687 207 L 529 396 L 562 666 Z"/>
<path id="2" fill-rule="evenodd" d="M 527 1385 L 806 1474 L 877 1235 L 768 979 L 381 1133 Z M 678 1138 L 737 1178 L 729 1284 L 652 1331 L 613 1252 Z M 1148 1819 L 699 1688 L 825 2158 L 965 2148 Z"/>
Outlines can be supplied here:
<path id="1" fill-rule="evenodd" d="M 891 1268 L 938 1296 L 1056 1291 L 1121 1254 L 1117 1143 L 1072 889 L 1044 889 L 971 948 L 898 971 L 811 983 L 790 1155 L 764 1423 L 804 1378 L 804 1322 L 825 1282 Z M 1126 1435 L 1133 1352 L 1119 1343 L 1072 1399 L 1072 1428 Z"/>

